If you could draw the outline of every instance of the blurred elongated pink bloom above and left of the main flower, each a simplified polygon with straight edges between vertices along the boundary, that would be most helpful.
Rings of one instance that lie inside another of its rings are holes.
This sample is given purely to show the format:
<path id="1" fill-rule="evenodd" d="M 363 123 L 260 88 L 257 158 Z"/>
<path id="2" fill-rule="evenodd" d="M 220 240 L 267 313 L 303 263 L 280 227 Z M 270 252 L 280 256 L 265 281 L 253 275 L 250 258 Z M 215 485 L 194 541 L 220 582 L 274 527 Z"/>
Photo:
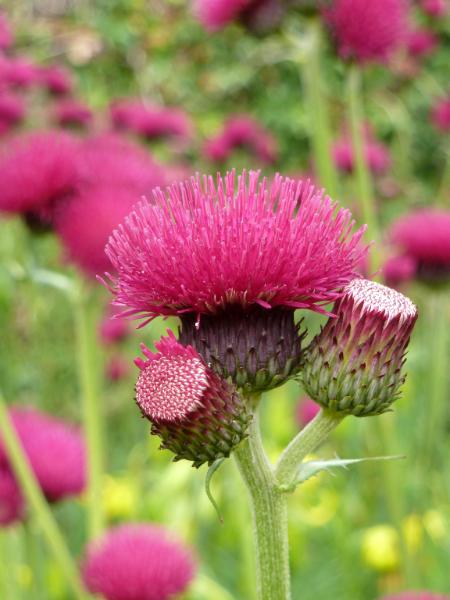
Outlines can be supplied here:
<path id="1" fill-rule="evenodd" d="M 189 137 L 192 124 L 179 108 L 148 106 L 140 100 L 119 100 L 111 105 L 111 119 L 117 129 L 128 129 L 147 139 Z"/>

